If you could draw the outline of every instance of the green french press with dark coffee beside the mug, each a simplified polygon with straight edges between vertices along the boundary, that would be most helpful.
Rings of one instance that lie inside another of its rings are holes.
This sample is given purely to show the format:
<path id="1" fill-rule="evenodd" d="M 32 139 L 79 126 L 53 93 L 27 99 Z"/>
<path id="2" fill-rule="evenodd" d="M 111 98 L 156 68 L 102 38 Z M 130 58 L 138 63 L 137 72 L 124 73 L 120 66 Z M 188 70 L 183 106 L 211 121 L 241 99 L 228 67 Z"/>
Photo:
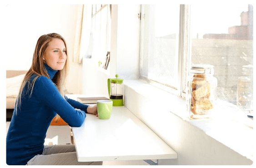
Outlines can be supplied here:
<path id="1" fill-rule="evenodd" d="M 108 93 L 110 100 L 113 101 L 113 106 L 123 106 L 123 79 L 118 79 L 118 74 L 115 75 L 116 78 L 108 79 Z"/>

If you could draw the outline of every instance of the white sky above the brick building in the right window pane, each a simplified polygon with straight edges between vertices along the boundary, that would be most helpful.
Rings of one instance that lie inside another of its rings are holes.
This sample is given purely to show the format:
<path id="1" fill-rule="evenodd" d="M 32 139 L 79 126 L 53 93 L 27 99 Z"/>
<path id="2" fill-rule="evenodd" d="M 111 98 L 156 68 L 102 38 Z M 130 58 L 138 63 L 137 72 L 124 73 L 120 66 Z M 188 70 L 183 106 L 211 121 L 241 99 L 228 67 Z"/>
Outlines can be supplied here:
<path id="1" fill-rule="evenodd" d="M 191 35 L 228 34 L 228 28 L 241 25 L 240 14 L 247 4 L 191 5 Z"/>

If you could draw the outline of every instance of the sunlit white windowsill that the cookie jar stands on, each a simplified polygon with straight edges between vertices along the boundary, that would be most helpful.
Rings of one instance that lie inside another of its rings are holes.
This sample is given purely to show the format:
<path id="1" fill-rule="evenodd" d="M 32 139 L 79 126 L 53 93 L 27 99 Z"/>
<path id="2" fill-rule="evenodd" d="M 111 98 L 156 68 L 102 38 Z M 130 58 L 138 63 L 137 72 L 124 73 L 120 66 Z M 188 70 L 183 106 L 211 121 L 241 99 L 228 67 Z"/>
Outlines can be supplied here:
<path id="1" fill-rule="evenodd" d="M 154 102 L 155 106 L 168 110 L 253 162 L 253 119 L 248 118 L 246 113 L 237 111 L 235 105 L 219 100 L 217 101 L 216 114 L 211 120 L 191 120 L 186 110 L 185 99 L 139 80 L 125 80 L 124 85 Z M 124 97 L 124 99 L 129 99 L 129 97 Z M 125 100 L 125 102 L 127 101 Z M 135 115 L 138 118 L 143 116 L 140 116 L 139 113 Z M 141 118 L 141 120 L 143 119 Z M 150 126 L 149 123 L 147 125 Z"/>

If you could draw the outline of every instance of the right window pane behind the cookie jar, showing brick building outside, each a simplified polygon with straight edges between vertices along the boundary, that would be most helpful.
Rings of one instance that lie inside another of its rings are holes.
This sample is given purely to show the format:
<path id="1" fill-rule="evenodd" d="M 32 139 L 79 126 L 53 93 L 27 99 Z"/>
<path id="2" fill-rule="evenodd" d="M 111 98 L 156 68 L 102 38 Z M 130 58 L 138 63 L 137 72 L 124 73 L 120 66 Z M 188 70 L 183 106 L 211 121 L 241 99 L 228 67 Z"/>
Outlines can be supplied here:
<path id="1" fill-rule="evenodd" d="M 243 76 L 253 83 L 253 6 L 191 5 L 191 40 L 191 64 L 214 65 L 218 98 L 253 102 L 253 85 L 238 88 Z"/>

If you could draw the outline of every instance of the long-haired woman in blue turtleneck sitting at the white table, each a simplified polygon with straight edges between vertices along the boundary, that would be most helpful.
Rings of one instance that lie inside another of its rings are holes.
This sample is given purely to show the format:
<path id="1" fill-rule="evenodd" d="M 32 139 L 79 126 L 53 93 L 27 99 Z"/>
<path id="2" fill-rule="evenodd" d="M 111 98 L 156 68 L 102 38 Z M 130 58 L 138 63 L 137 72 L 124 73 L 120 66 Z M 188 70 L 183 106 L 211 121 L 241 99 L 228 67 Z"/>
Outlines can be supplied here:
<path id="1" fill-rule="evenodd" d="M 97 116 L 97 106 L 86 106 L 64 96 L 67 58 L 66 43 L 59 34 L 38 39 L 6 137 L 7 165 L 102 164 L 77 162 L 74 145 L 44 146 L 46 131 L 56 114 L 71 127 L 80 127 L 85 113 Z"/>

